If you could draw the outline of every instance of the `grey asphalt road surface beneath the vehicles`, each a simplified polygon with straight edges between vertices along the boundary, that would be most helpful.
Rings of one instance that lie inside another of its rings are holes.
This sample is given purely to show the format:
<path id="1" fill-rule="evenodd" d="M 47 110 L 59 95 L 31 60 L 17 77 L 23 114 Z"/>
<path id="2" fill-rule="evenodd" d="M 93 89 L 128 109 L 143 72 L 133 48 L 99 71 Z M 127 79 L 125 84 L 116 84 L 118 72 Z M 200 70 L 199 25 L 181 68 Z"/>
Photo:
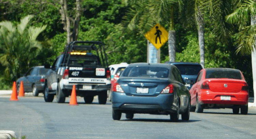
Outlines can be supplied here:
<path id="1" fill-rule="evenodd" d="M 189 121 L 170 122 L 169 116 L 135 114 L 127 120 L 112 119 L 111 103 L 71 106 L 65 103 L 46 103 L 42 94 L 33 97 L 25 93 L 19 101 L 10 95 L 0 96 L 0 130 L 12 130 L 17 137 L 27 139 L 255 139 L 256 108 L 248 115 L 233 115 L 231 109 L 209 109 L 198 114 L 191 112 Z"/>

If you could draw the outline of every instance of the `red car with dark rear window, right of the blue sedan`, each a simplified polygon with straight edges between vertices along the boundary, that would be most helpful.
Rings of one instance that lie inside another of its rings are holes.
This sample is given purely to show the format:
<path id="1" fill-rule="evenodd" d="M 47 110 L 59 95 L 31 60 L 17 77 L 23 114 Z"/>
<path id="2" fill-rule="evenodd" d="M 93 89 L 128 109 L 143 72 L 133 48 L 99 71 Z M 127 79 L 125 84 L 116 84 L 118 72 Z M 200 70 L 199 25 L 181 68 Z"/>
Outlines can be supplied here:
<path id="1" fill-rule="evenodd" d="M 232 108 L 233 114 L 248 113 L 248 84 L 242 72 L 232 68 L 204 68 L 189 90 L 191 112 L 204 108 Z"/>

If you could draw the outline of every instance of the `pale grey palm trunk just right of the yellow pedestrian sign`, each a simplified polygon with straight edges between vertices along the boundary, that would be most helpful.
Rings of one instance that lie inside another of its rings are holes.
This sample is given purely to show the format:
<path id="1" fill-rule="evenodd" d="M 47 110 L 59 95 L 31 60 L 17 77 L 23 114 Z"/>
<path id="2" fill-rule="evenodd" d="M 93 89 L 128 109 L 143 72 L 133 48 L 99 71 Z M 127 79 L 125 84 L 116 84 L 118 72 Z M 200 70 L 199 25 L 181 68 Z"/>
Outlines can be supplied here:
<path id="1" fill-rule="evenodd" d="M 174 30 L 169 31 L 168 49 L 169 49 L 169 59 L 170 59 L 169 61 L 175 62 L 176 48 L 175 48 L 175 31 Z"/>

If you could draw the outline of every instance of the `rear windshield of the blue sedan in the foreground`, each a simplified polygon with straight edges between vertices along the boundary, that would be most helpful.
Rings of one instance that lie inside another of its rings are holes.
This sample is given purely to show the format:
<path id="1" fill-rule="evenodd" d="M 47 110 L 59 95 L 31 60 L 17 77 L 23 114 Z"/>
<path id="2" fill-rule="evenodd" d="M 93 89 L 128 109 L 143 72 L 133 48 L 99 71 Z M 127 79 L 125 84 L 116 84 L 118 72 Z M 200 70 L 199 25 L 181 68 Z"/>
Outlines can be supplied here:
<path id="1" fill-rule="evenodd" d="M 169 69 L 164 67 L 127 67 L 122 76 L 124 77 L 155 77 L 168 78 Z"/>

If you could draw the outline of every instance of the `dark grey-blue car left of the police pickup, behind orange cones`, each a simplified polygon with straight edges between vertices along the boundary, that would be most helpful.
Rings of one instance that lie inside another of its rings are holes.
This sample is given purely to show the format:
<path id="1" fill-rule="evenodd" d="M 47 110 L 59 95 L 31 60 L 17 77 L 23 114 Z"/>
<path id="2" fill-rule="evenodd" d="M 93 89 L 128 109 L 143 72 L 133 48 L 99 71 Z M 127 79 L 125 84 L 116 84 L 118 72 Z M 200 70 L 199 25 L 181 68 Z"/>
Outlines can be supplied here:
<path id="1" fill-rule="evenodd" d="M 33 96 L 38 96 L 39 93 L 43 93 L 45 74 L 48 70 L 49 69 L 44 68 L 44 66 L 31 67 L 23 77 L 17 79 L 17 94 L 19 93 L 21 81 L 23 81 L 24 93 L 32 92 Z"/>

